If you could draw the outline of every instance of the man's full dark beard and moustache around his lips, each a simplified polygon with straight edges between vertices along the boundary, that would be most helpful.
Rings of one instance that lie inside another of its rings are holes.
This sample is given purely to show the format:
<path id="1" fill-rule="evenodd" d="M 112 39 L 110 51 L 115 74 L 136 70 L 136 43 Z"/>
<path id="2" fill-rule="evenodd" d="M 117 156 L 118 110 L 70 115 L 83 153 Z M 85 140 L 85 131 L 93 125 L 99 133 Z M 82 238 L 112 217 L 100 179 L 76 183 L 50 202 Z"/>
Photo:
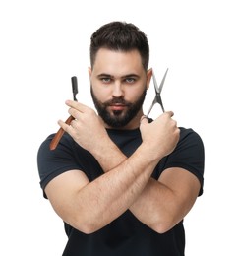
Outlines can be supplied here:
<path id="1" fill-rule="evenodd" d="M 121 128 L 127 125 L 141 110 L 147 89 L 143 94 L 134 102 L 128 102 L 123 97 L 114 97 L 108 101 L 101 102 L 93 93 L 92 87 L 90 87 L 90 94 L 97 109 L 98 115 L 103 121 L 112 128 Z M 114 104 L 121 104 L 126 106 L 125 110 L 113 110 L 112 113 L 108 111 L 108 107 Z"/>

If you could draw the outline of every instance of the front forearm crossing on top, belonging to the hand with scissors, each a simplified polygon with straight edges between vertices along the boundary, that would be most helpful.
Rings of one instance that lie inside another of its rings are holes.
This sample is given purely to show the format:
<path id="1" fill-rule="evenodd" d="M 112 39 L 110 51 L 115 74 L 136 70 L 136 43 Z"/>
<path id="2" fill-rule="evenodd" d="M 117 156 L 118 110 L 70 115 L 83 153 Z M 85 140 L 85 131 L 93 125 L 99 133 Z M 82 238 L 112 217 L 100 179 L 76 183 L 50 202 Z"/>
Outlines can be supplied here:
<path id="1" fill-rule="evenodd" d="M 143 155 L 144 150 L 138 148 L 131 158 L 78 192 L 76 203 L 80 208 L 80 220 L 77 223 L 87 224 L 87 232 L 109 224 L 137 200 L 156 164 L 155 161 L 148 162 L 148 158 L 142 158 Z"/>

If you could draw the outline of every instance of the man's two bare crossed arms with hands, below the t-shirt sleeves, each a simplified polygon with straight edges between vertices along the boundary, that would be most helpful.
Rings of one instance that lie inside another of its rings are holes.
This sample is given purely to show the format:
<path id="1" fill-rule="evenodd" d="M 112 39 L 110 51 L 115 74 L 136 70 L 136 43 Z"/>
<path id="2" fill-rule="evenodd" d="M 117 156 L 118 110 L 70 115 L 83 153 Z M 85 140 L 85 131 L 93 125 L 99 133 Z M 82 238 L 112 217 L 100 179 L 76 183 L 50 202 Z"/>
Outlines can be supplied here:
<path id="1" fill-rule="evenodd" d="M 180 222 L 195 203 L 200 182 L 182 168 L 166 169 L 158 180 L 150 177 L 159 160 L 177 144 L 179 130 L 172 114 L 165 113 L 150 124 L 144 119 L 143 143 L 127 158 L 93 110 L 80 103 L 69 105 L 77 121 L 71 126 L 59 122 L 61 127 L 89 150 L 104 174 L 89 182 L 83 171 L 71 170 L 50 181 L 45 192 L 56 213 L 85 233 L 109 224 L 128 209 L 159 233 Z"/>

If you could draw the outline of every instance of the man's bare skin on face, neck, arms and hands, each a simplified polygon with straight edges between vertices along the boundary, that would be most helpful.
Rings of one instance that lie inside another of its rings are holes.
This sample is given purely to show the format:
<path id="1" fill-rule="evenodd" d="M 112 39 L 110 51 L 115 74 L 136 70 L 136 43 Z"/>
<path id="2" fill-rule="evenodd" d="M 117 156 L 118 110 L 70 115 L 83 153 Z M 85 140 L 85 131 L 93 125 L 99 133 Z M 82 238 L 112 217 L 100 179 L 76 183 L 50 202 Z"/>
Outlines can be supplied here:
<path id="1" fill-rule="evenodd" d="M 101 75 L 103 74 L 103 75 Z M 106 76 L 104 76 L 106 74 Z M 132 74 L 132 75 L 131 75 Z M 121 52 L 100 49 L 89 79 L 94 95 L 102 102 L 124 97 L 134 102 L 148 89 L 152 70 L 146 72 L 138 51 Z M 148 123 L 141 109 L 126 126 L 140 128 L 143 142 L 127 158 L 110 140 L 105 128 L 111 128 L 88 106 L 67 100 L 69 113 L 76 119 L 71 125 L 59 125 L 88 150 L 100 163 L 104 174 L 89 182 L 79 169 L 52 179 L 45 188 L 55 212 L 68 224 L 92 233 L 130 210 L 136 218 L 158 233 L 178 224 L 191 210 L 200 182 L 189 171 L 173 167 L 164 170 L 158 180 L 150 177 L 154 167 L 170 154 L 179 140 L 173 112 L 165 112 Z M 126 111 L 123 105 L 108 110 Z"/>

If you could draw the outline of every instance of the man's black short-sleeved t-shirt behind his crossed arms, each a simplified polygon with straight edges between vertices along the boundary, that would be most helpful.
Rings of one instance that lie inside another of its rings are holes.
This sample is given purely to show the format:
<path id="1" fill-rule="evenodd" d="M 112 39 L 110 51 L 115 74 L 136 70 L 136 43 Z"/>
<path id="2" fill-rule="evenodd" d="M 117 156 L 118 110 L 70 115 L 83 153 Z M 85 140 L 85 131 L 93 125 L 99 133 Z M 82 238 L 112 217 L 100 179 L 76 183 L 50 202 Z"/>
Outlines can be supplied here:
<path id="1" fill-rule="evenodd" d="M 152 177 L 158 179 L 163 170 L 169 167 L 182 167 L 192 172 L 200 180 L 203 193 L 204 145 L 200 136 L 192 129 L 180 128 L 180 140 L 175 150 L 159 161 Z M 111 140 L 127 156 L 131 156 L 142 143 L 140 130 L 107 130 Z M 86 173 L 89 181 L 103 174 L 97 160 L 68 135 L 64 134 L 58 147 L 50 151 L 50 135 L 38 151 L 38 171 L 40 186 L 45 186 L 57 175 L 71 170 L 80 169 Z M 44 197 L 46 198 L 45 193 Z M 159 234 L 141 223 L 128 210 L 112 223 L 100 230 L 85 234 L 65 223 L 68 243 L 64 256 L 103 255 L 103 256 L 180 256 L 184 255 L 185 232 L 183 222 L 169 231 Z"/>

